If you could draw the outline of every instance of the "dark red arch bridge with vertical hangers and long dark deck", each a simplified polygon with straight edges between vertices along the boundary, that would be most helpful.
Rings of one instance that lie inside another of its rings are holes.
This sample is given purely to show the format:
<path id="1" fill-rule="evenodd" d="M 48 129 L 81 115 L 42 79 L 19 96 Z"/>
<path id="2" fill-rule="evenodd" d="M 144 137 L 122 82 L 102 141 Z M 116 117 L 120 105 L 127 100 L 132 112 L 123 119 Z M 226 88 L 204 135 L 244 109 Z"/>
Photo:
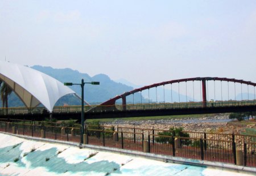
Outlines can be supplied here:
<path id="1" fill-rule="evenodd" d="M 217 77 L 164 81 L 125 92 L 100 105 L 85 106 L 85 118 L 256 111 L 255 86 L 251 81 Z M 0 109 L 1 118 L 43 118 L 47 114 L 44 108 Z M 55 118 L 80 119 L 80 114 L 81 106 L 53 109 Z"/>

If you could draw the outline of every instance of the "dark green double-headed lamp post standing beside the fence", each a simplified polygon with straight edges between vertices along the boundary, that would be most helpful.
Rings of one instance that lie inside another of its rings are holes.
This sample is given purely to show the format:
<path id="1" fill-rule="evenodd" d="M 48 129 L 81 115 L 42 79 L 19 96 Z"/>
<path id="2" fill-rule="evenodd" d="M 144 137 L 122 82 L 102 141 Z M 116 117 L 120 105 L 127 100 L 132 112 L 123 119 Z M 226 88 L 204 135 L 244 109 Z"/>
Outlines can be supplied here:
<path id="1" fill-rule="evenodd" d="M 82 107 L 81 107 L 81 126 L 82 126 L 82 129 L 81 129 L 81 143 L 82 144 L 84 143 L 84 138 L 82 136 L 82 135 L 84 135 L 84 84 L 99 85 L 100 82 L 92 81 L 92 82 L 85 83 L 84 79 L 82 79 L 81 84 L 64 83 L 64 85 L 81 85 L 81 89 L 82 89 L 82 93 L 81 93 L 81 105 L 82 105 Z"/>

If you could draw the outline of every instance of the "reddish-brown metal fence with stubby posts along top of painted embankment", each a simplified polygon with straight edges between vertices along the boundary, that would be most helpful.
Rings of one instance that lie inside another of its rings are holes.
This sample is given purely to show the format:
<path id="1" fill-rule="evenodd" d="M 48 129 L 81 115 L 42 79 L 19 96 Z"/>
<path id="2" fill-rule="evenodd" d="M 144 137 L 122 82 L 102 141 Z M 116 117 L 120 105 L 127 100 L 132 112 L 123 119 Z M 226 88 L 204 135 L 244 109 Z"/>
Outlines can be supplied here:
<path id="1" fill-rule="evenodd" d="M 75 143 L 83 138 L 84 144 L 256 167 L 254 135 L 182 131 L 189 136 L 184 137 L 169 130 L 113 126 L 86 126 L 81 134 L 80 127 L 25 121 L 0 121 L 0 131 Z"/>

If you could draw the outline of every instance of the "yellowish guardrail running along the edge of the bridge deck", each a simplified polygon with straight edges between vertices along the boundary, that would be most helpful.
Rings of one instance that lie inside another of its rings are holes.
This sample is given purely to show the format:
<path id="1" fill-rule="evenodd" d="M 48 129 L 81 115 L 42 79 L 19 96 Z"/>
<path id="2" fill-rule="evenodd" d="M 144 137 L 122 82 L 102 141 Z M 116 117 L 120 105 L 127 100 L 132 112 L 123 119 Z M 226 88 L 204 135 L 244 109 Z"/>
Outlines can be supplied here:
<path id="1" fill-rule="evenodd" d="M 84 111 L 122 111 L 122 110 L 153 110 L 153 109 L 178 109 L 178 108 L 213 108 L 213 107 L 229 107 L 229 106 L 251 106 L 256 105 L 256 100 L 244 101 L 216 101 L 216 102 L 180 102 L 180 103 L 151 103 L 151 104 L 129 104 L 129 105 L 91 105 L 84 106 Z M 81 106 L 55 106 L 54 113 L 80 113 Z M 0 115 L 15 114 L 48 114 L 46 108 L 0 108 Z"/>

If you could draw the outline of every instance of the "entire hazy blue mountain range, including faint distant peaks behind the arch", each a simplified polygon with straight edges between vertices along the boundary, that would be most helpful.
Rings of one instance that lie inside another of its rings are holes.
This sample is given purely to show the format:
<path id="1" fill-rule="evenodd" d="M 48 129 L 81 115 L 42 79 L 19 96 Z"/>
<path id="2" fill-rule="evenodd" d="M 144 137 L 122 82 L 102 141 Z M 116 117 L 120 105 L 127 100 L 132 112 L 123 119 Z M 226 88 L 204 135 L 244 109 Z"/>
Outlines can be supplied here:
<path id="1" fill-rule="evenodd" d="M 100 85 L 91 85 L 85 84 L 84 88 L 84 97 L 85 100 L 88 101 L 90 104 L 100 104 L 101 102 L 105 102 L 110 98 L 113 98 L 117 95 L 121 95 L 124 92 L 128 92 L 133 90 L 134 88 L 140 88 L 144 85 L 135 85 L 130 83 L 125 79 L 119 80 L 112 80 L 109 78 L 108 75 L 105 74 L 98 74 L 95 76 L 89 76 L 88 74 L 81 73 L 77 70 L 72 70 L 71 68 L 52 68 L 52 67 L 43 67 L 43 66 L 32 66 L 35 70 L 44 72 L 45 74 L 52 76 L 53 78 L 64 82 L 72 82 L 72 83 L 81 83 L 81 79 L 84 78 L 85 82 L 91 81 L 100 81 Z M 77 95 L 81 96 L 81 87 L 79 85 L 73 85 L 70 87 L 77 93 Z M 156 93 L 157 91 L 157 93 Z M 142 91 L 141 93 L 135 93 L 134 96 L 130 95 L 126 97 L 127 104 L 138 104 L 138 103 L 148 103 L 148 102 L 186 102 L 186 101 L 193 101 L 193 97 L 185 96 L 183 93 L 177 93 L 174 89 L 172 91 L 170 89 L 163 89 L 162 87 L 158 87 L 157 90 L 155 88 L 151 88 L 149 91 L 149 99 L 148 101 L 148 91 Z M 156 98 L 157 96 L 157 98 Z M 242 95 L 244 98 L 247 97 L 247 94 Z M 241 100 L 241 94 L 237 95 L 236 100 Z M 253 98 L 254 95 L 249 94 L 250 99 Z M 195 99 L 195 101 L 197 101 Z M 200 101 L 200 100 L 199 100 Z M 0 104 L 2 102 L 0 100 Z M 68 95 L 60 98 L 57 101 L 55 106 L 63 106 L 63 105 L 80 105 L 81 101 L 79 98 Z M 117 101 L 117 104 L 121 104 L 121 100 Z M 9 107 L 20 107 L 24 106 L 22 101 L 12 93 L 9 96 Z"/>

